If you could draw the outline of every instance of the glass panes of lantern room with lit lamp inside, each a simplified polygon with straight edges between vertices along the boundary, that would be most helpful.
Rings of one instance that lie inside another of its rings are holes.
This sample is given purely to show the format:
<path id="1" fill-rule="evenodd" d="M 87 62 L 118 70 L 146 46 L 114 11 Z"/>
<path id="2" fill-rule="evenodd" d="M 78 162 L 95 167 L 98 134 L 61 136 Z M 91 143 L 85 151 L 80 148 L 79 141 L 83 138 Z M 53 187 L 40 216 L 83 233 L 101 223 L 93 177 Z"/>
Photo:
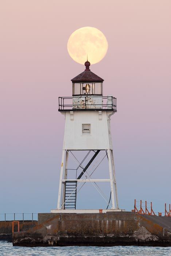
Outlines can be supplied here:
<path id="1" fill-rule="evenodd" d="M 102 82 L 73 83 L 73 95 L 102 95 Z"/>

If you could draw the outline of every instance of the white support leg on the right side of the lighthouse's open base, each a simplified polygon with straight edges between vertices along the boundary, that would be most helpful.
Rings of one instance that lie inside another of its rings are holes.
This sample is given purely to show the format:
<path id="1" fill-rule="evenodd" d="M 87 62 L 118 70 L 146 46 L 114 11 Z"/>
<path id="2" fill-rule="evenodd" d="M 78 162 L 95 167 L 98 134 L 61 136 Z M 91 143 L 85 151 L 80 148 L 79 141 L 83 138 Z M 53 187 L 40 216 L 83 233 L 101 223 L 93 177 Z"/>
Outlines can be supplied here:
<path id="1" fill-rule="evenodd" d="M 118 207 L 118 198 L 117 198 L 113 150 L 108 149 L 108 159 L 109 159 L 109 175 L 110 175 L 110 187 L 111 187 L 111 197 L 112 197 L 112 209 L 115 209 L 115 201 L 116 201 L 116 208 L 118 209 L 119 207 Z"/>

